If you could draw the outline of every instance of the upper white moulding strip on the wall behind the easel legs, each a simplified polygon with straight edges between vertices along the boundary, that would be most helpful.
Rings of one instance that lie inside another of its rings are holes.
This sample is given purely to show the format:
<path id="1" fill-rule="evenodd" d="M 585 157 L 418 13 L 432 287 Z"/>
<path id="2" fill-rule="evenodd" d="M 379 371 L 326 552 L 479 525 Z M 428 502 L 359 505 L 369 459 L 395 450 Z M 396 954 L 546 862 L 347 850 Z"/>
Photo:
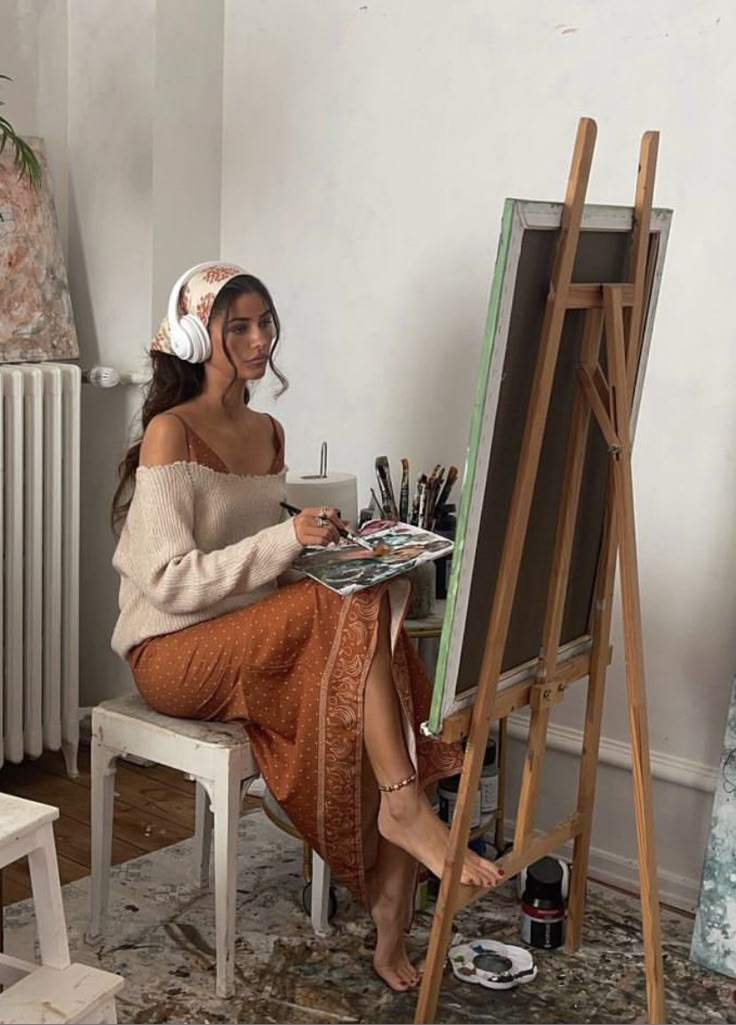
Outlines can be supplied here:
<path id="1" fill-rule="evenodd" d="M 508 735 L 515 740 L 526 742 L 529 720 L 527 714 L 518 712 L 508 716 Z M 569 726 L 550 724 L 547 730 L 547 747 L 551 750 L 564 751 L 567 754 L 580 754 L 582 750 L 582 730 Z M 695 762 L 692 758 L 681 758 L 666 751 L 651 751 L 652 777 L 687 786 L 705 793 L 714 793 L 719 778 L 718 769 Z M 601 737 L 600 762 L 614 766 L 616 769 L 630 770 L 631 748 L 622 740 L 612 740 Z"/>

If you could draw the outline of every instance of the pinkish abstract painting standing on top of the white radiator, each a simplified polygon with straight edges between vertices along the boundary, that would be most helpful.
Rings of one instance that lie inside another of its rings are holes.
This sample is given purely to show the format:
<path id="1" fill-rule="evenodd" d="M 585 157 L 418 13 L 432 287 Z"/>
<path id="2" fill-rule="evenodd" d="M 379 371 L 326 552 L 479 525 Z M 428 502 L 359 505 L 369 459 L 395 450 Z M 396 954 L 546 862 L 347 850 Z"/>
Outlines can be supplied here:
<path id="1" fill-rule="evenodd" d="M 79 357 L 46 153 L 34 188 L 18 178 L 10 147 L 0 154 L 0 363 Z"/>

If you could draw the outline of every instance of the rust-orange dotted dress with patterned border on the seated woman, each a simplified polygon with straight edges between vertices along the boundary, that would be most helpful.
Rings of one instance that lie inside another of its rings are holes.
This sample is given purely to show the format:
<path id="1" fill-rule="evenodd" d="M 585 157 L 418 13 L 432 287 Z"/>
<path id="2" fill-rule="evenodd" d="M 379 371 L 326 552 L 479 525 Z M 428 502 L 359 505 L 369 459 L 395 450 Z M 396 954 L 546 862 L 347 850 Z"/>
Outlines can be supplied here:
<path id="1" fill-rule="evenodd" d="M 229 473 L 187 427 L 189 458 Z M 279 452 L 272 473 L 283 465 Z M 341 598 L 305 578 L 154 637 L 128 653 L 135 684 L 166 715 L 240 722 L 272 793 L 360 900 L 375 859 L 378 791 L 363 745 L 363 693 L 380 602 L 392 606 L 394 682 L 422 785 L 458 772 L 457 745 L 423 737 L 432 685 L 404 628 L 406 578 Z"/>

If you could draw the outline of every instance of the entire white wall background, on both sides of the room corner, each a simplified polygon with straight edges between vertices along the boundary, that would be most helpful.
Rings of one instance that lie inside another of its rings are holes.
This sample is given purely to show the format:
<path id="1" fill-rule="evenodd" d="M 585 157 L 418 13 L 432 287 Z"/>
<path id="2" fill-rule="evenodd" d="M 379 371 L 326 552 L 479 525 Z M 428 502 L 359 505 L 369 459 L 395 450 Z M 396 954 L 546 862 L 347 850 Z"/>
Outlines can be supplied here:
<path id="1" fill-rule="evenodd" d="M 637 502 L 660 864 L 692 896 L 736 663 L 730 6 L 0 0 L 0 26 L 4 111 L 48 142 L 83 363 L 137 368 L 180 270 L 243 261 L 274 291 L 292 380 L 276 406 L 268 387 L 256 402 L 285 422 L 294 468 L 327 440 L 362 501 L 378 453 L 415 470 L 463 459 L 503 198 L 561 198 L 585 114 L 600 126 L 589 199 L 629 202 L 639 137 L 661 130 L 656 199 L 676 218 Z M 129 686 L 109 651 L 107 515 L 135 405 L 85 391 L 87 702 Z M 615 629 L 594 844 L 623 878 Z M 573 694 L 556 716 L 549 817 L 566 810 L 579 710 Z"/>

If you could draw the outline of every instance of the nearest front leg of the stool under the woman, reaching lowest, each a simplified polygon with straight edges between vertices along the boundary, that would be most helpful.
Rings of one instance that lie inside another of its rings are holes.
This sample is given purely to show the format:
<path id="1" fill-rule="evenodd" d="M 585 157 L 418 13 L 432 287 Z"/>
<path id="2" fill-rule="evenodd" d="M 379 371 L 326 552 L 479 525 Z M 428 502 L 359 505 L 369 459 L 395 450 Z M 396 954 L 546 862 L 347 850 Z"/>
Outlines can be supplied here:
<path id="1" fill-rule="evenodd" d="M 231 996 L 235 979 L 235 897 L 237 884 L 240 778 L 231 760 L 215 770 L 212 787 L 214 816 L 214 924 L 217 996 Z"/>

